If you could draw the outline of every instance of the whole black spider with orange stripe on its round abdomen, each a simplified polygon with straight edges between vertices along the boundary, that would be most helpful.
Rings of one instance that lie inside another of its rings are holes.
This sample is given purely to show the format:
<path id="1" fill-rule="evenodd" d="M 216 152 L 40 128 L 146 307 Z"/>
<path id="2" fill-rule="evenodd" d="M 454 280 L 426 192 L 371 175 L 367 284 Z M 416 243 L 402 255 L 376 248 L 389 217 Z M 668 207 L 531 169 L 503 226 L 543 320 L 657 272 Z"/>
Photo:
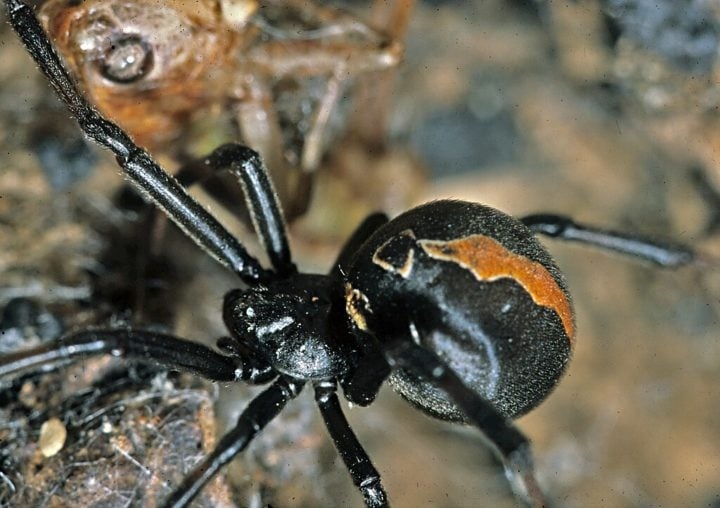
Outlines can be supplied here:
<path id="1" fill-rule="evenodd" d="M 327 274 L 302 273 L 260 156 L 238 144 L 220 146 L 205 164 L 241 182 L 271 264 L 265 268 L 124 131 L 89 106 L 32 9 L 20 0 L 6 3 L 12 26 L 83 132 L 109 148 L 124 174 L 246 286 L 225 295 L 229 336 L 217 341 L 217 350 L 154 331 L 89 329 L 0 359 L 0 378 L 113 355 L 216 382 L 269 383 L 166 500 L 168 506 L 188 505 L 308 383 L 365 504 L 387 506 L 380 475 L 337 395 L 339 386 L 348 401 L 366 406 L 385 381 L 426 414 L 477 427 L 513 485 L 542 506 L 530 443 L 512 419 L 540 404 L 557 384 L 570 358 L 575 320 L 564 277 L 536 235 L 664 267 L 703 261 L 681 245 L 564 216 L 515 219 L 481 204 L 442 200 L 393 220 L 370 215 Z"/>

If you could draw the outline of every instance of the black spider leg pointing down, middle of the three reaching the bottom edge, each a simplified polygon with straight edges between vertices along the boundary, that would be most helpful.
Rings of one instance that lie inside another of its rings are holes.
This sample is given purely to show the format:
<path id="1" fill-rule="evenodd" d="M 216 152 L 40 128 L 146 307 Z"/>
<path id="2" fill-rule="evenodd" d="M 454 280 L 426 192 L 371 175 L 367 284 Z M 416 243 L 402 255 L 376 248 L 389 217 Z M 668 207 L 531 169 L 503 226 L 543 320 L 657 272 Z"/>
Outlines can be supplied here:
<path id="1" fill-rule="evenodd" d="M 337 385 L 332 381 L 315 383 L 315 401 L 320 408 L 325 426 L 340 456 L 350 472 L 355 486 L 365 498 L 369 508 L 388 506 L 387 494 L 380 483 L 380 473 L 357 440 L 355 433 L 340 408 Z"/>

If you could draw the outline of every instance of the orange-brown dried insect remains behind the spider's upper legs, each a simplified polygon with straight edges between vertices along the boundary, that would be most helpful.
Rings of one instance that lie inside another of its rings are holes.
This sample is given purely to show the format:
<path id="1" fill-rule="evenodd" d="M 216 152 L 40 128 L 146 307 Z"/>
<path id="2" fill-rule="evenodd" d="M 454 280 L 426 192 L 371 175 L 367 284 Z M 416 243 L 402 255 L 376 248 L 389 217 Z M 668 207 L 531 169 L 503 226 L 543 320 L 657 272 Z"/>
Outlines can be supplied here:
<path id="1" fill-rule="evenodd" d="M 396 16 L 412 9 L 401 7 Z M 402 34 L 313 1 L 49 0 L 39 19 L 90 102 L 185 175 L 208 178 L 188 141 L 210 111 L 229 113 L 229 130 L 260 153 L 288 218 L 309 206 L 343 95 L 358 78 L 397 68 L 404 53 Z M 208 188 L 232 204 L 239 193 L 228 185 Z"/>

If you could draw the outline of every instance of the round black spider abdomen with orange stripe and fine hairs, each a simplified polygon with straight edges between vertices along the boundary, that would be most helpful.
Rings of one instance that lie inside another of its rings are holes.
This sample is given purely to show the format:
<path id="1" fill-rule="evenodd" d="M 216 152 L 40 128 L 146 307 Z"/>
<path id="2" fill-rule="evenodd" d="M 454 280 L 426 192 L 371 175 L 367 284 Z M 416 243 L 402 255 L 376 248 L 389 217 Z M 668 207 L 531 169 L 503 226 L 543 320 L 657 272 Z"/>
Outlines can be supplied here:
<path id="1" fill-rule="evenodd" d="M 348 311 L 380 341 L 416 334 L 476 393 L 515 417 L 561 377 L 574 335 L 562 274 L 532 232 L 489 207 L 437 201 L 378 229 L 348 271 Z M 434 384 L 390 382 L 432 416 L 463 421 Z"/>

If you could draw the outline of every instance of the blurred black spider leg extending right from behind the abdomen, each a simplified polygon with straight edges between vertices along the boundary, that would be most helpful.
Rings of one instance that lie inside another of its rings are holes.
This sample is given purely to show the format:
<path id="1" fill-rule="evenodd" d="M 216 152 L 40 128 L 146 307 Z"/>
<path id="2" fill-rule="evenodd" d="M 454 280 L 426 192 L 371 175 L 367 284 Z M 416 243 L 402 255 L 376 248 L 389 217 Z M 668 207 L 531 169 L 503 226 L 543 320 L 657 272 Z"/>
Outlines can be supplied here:
<path id="1" fill-rule="evenodd" d="M 683 245 L 579 224 L 562 215 L 528 215 L 520 221 L 536 234 L 612 250 L 666 268 L 699 261 L 698 255 Z"/>

